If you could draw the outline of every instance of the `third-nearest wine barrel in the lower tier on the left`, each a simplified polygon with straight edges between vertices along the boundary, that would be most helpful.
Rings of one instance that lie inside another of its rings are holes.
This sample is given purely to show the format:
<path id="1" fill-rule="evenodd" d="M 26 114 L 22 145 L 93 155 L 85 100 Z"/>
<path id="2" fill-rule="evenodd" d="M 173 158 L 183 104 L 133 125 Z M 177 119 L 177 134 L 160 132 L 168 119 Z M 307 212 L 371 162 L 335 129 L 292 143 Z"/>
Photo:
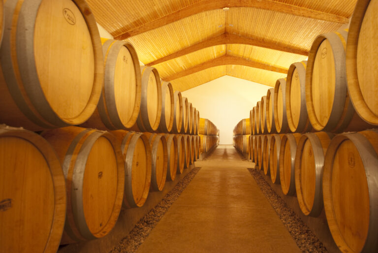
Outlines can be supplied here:
<path id="1" fill-rule="evenodd" d="M 151 148 L 143 133 L 116 130 L 112 133 L 121 141 L 125 161 L 126 208 L 141 207 L 147 200 L 152 174 Z"/>

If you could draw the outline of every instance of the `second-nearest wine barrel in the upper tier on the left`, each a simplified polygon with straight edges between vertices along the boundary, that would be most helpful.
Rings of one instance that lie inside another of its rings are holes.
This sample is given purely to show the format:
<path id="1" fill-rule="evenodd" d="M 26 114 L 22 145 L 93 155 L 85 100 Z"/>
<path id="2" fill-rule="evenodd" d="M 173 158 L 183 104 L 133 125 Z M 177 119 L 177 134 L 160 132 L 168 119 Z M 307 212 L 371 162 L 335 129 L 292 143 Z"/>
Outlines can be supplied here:
<path id="1" fill-rule="evenodd" d="M 104 88 L 94 114 L 80 126 L 101 130 L 130 128 L 138 118 L 141 101 L 138 55 L 129 42 L 102 41 Z"/>

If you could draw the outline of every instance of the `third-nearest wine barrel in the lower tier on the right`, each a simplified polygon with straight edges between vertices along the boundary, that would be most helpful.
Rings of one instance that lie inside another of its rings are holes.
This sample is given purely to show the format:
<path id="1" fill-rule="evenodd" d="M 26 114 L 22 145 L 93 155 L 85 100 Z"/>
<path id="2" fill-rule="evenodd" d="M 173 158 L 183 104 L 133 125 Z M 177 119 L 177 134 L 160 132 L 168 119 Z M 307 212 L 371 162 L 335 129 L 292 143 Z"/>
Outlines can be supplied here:
<path id="1" fill-rule="evenodd" d="M 281 139 L 280 147 L 280 180 L 281 189 L 285 195 L 295 194 L 294 161 L 300 133 L 288 133 Z"/>

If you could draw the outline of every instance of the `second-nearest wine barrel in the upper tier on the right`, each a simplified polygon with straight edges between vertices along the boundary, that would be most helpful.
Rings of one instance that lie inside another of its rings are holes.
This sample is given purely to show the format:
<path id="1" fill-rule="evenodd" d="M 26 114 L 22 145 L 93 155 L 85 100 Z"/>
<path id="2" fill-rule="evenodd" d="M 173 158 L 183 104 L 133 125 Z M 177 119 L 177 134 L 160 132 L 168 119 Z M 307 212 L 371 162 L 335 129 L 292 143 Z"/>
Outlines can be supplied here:
<path id="1" fill-rule="evenodd" d="M 370 127 L 356 113 L 347 91 L 347 32 L 315 38 L 306 68 L 306 106 L 316 131 L 356 131 Z"/>

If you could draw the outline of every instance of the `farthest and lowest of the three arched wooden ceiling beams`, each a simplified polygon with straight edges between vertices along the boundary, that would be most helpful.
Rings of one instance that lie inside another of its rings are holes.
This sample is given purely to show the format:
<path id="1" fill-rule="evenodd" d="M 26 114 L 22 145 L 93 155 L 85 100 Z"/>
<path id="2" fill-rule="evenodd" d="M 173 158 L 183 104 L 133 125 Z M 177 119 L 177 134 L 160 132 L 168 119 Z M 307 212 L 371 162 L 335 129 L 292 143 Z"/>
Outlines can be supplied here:
<path id="1" fill-rule="evenodd" d="M 241 58 L 241 57 L 224 55 L 224 56 L 215 58 L 211 61 L 201 63 L 201 64 L 195 65 L 191 68 L 177 72 L 177 73 L 175 73 L 171 76 L 163 77 L 162 80 L 169 82 L 169 81 L 175 80 L 177 78 L 184 77 L 184 76 L 196 73 L 198 71 L 201 71 L 201 70 L 204 70 L 204 69 L 207 69 L 207 68 L 221 66 L 221 65 L 244 65 L 244 66 L 248 66 L 248 67 L 255 67 L 255 68 L 260 68 L 260 69 L 265 69 L 265 70 L 269 70 L 269 71 L 287 74 L 287 69 L 285 69 L 285 68 L 272 66 L 272 65 L 269 65 L 269 64 L 266 64 L 266 63 L 249 61 L 249 60 L 246 60 L 246 59 Z"/>

